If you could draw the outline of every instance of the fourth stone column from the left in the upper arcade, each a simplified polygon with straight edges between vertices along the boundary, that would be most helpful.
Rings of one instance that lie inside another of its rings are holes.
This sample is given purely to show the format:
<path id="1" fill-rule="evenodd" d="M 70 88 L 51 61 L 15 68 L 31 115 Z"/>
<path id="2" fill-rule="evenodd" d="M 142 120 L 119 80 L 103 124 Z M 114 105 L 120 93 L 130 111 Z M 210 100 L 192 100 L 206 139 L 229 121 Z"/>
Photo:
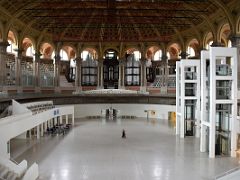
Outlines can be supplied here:
<path id="1" fill-rule="evenodd" d="M 55 55 L 54 63 L 54 88 L 55 92 L 60 92 L 60 60 L 61 56 L 59 54 Z"/>

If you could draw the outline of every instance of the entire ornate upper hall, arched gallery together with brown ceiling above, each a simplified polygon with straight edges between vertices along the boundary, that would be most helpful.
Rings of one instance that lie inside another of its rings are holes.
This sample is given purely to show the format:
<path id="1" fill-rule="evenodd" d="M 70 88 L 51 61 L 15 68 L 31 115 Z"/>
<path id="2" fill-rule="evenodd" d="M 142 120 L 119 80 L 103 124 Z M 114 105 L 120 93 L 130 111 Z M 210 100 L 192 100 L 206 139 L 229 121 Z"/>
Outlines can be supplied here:
<path id="1" fill-rule="evenodd" d="M 240 46 L 240 3 L 2 0 L 0 41 L 4 92 L 175 93 L 176 61 Z"/>

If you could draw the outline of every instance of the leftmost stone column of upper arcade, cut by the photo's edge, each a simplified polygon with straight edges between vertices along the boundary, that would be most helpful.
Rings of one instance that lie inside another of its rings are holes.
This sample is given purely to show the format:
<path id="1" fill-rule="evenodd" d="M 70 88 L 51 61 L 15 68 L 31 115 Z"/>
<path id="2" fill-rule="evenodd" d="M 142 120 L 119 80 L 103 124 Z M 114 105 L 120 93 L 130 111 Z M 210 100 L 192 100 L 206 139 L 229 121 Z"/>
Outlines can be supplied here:
<path id="1" fill-rule="evenodd" d="M 0 91 L 5 91 L 7 46 L 9 46 L 7 41 L 0 42 Z"/>

